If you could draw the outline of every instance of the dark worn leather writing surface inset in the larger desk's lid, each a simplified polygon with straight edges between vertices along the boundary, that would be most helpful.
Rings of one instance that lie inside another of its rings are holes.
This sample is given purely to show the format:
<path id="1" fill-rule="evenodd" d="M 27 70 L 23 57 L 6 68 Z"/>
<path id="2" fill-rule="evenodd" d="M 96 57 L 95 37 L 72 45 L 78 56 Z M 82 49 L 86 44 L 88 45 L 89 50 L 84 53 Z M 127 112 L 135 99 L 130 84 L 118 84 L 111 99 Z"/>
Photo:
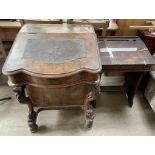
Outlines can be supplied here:
<path id="1" fill-rule="evenodd" d="M 86 57 L 86 49 L 82 39 L 29 39 L 23 53 L 24 59 L 49 64 L 65 63 L 84 57 Z"/>

